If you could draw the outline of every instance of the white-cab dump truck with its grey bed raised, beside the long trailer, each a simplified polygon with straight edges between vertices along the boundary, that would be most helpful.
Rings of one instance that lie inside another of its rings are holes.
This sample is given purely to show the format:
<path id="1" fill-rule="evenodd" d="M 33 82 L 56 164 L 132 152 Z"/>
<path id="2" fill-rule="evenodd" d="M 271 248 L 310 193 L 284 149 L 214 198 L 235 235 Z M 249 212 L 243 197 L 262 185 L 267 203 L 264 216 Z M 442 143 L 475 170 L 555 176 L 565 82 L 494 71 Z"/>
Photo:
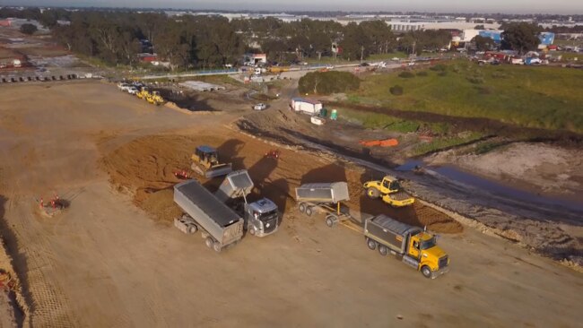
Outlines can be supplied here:
<path id="1" fill-rule="evenodd" d="M 233 203 L 235 211 L 245 220 L 248 233 L 264 237 L 277 231 L 279 211 L 277 205 L 267 198 L 248 203 L 247 196 L 253 189 L 253 180 L 246 169 L 231 172 L 222 181 L 215 196 L 223 203 Z M 242 200 L 242 202 L 241 202 Z"/>

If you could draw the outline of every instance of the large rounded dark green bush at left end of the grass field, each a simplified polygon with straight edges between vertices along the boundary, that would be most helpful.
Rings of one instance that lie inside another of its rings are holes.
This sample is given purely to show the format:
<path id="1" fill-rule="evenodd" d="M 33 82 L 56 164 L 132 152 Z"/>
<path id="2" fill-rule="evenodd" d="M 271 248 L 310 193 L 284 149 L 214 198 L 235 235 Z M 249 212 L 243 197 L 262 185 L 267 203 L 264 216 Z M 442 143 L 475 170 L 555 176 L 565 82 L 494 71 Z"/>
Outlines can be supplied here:
<path id="1" fill-rule="evenodd" d="M 361 86 L 361 79 L 349 72 L 312 72 L 301 77 L 298 83 L 301 94 L 331 94 L 355 91 Z"/>

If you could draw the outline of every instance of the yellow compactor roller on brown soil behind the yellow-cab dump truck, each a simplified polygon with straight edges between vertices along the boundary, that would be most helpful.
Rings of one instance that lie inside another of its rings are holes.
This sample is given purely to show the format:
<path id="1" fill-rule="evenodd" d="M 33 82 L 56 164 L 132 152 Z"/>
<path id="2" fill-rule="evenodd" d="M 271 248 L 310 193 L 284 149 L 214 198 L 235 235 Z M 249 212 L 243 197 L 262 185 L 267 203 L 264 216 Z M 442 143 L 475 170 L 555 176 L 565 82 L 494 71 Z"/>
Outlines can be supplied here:
<path id="1" fill-rule="evenodd" d="M 364 188 L 370 198 L 380 197 L 393 207 L 409 206 L 415 202 L 415 199 L 403 190 L 395 177 L 386 176 L 380 181 L 368 181 L 364 183 Z"/>

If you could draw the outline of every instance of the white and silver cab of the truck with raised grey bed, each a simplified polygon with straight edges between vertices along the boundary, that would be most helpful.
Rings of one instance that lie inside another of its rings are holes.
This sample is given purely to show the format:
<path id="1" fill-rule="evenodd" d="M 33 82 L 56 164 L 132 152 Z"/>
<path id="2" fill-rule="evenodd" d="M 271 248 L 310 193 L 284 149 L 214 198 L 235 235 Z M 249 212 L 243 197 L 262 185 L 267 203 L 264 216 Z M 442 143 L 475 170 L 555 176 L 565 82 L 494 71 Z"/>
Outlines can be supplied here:
<path id="1" fill-rule="evenodd" d="M 279 211 L 274 202 L 263 198 L 257 202 L 245 203 L 244 219 L 248 233 L 257 237 L 265 237 L 277 231 Z"/>

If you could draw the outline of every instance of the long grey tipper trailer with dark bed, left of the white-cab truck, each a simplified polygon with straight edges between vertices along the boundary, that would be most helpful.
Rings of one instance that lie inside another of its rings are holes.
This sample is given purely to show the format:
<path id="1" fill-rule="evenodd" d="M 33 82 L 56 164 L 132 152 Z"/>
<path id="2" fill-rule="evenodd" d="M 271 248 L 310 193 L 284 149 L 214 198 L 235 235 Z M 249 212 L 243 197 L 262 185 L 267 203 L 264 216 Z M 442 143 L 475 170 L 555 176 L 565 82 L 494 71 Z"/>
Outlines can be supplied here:
<path id="1" fill-rule="evenodd" d="M 196 180 L 174 186 L 174 203 L 185 211 L 174 224 L 188 233 L 201 231 L 206 246 L 220 252 L 243 237 L 243 219 Z M 181 228 L 182 227 L 182 228 Z"/>

